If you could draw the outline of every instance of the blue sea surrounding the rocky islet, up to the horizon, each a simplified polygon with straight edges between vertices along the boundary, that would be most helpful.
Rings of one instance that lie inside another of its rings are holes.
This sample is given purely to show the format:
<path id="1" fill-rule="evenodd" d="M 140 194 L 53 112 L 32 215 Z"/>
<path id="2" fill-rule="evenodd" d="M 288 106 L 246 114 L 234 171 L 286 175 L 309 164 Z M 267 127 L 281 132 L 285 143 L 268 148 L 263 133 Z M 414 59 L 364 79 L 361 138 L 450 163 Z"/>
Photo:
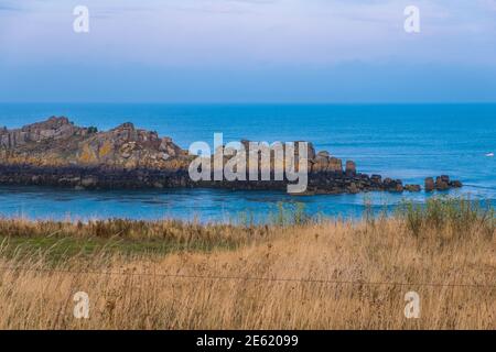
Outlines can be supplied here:
<path id="1" fill-rule="evenodd" d="M 496 105 L 0 105 L 0 127 L 19 128 L 51 116 L 99 130 L 122 122 L 155 130 L 187 148 L 192 142 L 224 140 L 311 141 L 357 169 L 423 185 L 448 174 L 465 187 L 448 195 L 495 201 Z M 0 187 L 0 216 L 31 219 L 197 219 L 265 221 L 278 204 L 304 204 L 309 215 L 356 218 L 365 204 L 375 210 L 428 195 L 368 193 L 292 197 L 277 191 L 212 189 L 77 191 L 43 187 Z"/>

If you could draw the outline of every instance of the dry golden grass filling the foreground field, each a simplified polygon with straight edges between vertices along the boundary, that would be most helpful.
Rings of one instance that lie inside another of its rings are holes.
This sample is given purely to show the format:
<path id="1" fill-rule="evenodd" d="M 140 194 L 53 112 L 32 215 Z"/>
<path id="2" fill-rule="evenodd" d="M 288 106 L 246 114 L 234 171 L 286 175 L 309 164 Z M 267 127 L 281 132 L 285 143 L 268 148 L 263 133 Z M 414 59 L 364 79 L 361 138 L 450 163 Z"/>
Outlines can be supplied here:
<path id="1" fill-rule="evenodd" d="M 224 227 L 250 240 L 158 256 L 1 256 L 0 328 L 496 329 L 496 233 L 486 220 L 416 231 L 402 217 L 323 221 L 257 237 Z M 420 295 L 419 319 L 403 315 L 409 290 Z M 76 292 L 89 295 L 89 319 L 73 316 Z"/>

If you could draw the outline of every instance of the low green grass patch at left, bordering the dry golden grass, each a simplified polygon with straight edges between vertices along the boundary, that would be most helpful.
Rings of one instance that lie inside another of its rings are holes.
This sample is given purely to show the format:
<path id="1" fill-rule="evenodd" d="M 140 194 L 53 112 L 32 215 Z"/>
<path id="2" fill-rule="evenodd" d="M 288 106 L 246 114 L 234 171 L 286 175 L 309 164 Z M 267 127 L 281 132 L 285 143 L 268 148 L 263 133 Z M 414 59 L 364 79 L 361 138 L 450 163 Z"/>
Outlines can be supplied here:
<path id="1" fill-rule="evenodd" d="M 228 224 L 200 224 L 174 220 L 95 220 L 87 223 L 0 219 L 0 257 L 53 261 L 95 255 L 165 255 L 173 252 L 233 250 L 265 227 L 241 230 Z"/>

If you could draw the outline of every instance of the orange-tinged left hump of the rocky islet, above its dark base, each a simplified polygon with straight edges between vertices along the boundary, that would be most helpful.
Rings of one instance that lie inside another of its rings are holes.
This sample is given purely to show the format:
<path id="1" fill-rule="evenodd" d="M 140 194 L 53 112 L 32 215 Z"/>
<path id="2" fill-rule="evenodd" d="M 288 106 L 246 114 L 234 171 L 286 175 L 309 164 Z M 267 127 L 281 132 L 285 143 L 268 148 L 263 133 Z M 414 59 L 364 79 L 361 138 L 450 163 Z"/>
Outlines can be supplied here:
<path id="1" fill-rule="evenodd" d="M 108 132 L 52 117 L 17 130 L 0 130 L 0 161 L 33 166 L 176 167 L 186 153 L 171 139 L 123 123 Z"/>

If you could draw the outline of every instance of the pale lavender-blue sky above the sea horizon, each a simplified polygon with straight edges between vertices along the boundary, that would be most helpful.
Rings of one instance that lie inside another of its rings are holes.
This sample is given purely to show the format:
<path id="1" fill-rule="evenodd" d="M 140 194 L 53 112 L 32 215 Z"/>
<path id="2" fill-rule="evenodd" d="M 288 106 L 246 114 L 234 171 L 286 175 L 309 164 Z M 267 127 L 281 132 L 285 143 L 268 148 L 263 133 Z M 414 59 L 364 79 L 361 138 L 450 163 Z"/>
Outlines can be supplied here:
<path id="1" fill-rule="evenodd" d="M 0 101 L 496 102 L 496 0 L 0 0 Z"/>

